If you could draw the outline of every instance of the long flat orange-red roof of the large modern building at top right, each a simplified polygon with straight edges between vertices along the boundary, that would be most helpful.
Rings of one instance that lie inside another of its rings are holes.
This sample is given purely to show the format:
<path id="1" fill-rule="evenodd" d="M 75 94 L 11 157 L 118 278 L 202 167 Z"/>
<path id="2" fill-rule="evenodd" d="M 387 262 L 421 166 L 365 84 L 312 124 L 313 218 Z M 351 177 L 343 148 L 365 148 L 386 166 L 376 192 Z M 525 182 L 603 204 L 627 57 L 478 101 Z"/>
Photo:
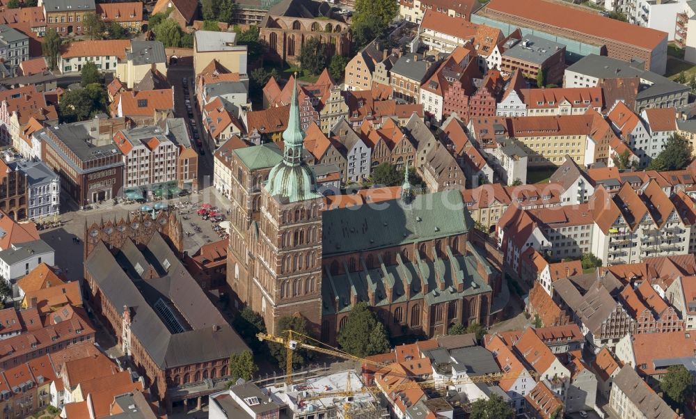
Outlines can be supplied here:
<path id="1" fill-rule="evenodd" d="M 634 26 L 603 17 L 597 13 L 543 0 L 491 0 L 484 10 L 495 10 L 529 22 L 593 35 L 606 40 L 624 42 L 644 49 L 654 49 L 667 38 L 667 33 Z M 571 35 L 571 38 L 573 36 Z"/>

